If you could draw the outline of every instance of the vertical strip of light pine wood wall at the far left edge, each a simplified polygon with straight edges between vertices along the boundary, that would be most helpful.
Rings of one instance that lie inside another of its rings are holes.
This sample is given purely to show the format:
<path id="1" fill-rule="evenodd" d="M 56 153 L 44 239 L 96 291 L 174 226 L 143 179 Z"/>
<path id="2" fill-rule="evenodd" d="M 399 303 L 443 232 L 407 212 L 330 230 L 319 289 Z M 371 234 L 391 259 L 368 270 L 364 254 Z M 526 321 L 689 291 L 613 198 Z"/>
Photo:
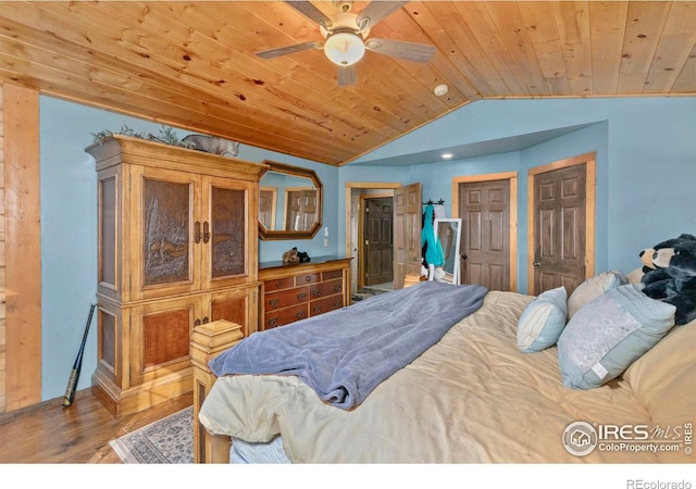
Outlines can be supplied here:
<path id="1" fill-rule="evenodd" d="M 41 401 L 39 92 L 0 87 L 0 411 Z"/>

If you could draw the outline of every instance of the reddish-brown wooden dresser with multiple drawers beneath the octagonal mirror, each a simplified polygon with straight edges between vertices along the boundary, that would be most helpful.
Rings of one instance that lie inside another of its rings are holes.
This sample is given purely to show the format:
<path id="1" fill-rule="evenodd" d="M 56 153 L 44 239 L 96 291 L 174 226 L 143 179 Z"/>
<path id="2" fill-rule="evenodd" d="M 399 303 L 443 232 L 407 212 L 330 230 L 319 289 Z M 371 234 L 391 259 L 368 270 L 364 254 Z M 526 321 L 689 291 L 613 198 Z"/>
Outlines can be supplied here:
<path id="1" fill-rule="evenodd" d="M 260 329 L 271 329 L 350 305 L 349 258 L 318 256 L 309 263 L 261 263 Z"/>

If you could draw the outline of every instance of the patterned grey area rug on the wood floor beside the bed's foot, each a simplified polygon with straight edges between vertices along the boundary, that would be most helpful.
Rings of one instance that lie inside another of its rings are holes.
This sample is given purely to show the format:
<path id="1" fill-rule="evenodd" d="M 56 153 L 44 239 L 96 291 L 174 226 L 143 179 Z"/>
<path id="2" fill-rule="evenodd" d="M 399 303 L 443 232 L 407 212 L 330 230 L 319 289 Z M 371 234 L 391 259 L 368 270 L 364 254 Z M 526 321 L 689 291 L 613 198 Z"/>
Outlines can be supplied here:
<path id="1" fill-rule="evenodd" d="M 125 464 L 192 464 L 194 408 L 109 442 Z"/>

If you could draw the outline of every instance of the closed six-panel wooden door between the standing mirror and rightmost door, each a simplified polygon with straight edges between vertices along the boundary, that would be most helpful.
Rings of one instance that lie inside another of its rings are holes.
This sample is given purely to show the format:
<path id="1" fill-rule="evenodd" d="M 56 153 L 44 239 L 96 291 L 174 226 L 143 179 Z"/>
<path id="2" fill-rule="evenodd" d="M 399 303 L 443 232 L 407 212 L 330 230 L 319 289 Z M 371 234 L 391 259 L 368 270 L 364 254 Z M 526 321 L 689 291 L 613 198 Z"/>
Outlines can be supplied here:
<path id="1" fill-rule="evenodd" d="M 512 290 L 510 273 L 510 180 L 459 184 L 462 284 Z"/>

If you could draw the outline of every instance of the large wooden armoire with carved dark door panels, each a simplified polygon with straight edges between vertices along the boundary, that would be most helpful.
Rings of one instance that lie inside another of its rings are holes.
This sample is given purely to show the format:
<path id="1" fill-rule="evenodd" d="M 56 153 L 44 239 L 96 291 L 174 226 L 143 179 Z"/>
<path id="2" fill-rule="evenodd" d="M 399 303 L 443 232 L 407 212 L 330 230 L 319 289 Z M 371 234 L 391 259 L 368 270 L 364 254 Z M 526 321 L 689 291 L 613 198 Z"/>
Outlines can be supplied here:
<path id="1" fill-rule="evenodd" d="M 192 328 L 257 330 L 266 165 L 114 135 L 86 149 L 99 189 L 98 365 L 114 416 L 192 389 Z"/>

